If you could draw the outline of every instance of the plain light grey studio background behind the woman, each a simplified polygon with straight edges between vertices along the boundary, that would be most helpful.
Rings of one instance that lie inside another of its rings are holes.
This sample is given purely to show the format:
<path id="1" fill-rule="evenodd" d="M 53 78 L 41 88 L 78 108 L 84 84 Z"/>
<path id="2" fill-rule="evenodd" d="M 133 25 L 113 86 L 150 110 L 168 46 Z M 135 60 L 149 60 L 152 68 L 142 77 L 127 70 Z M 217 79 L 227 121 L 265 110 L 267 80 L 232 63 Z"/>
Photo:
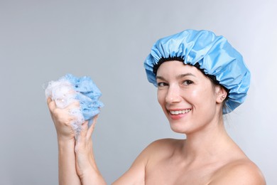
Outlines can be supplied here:
<path id="1" fill-rule="evenodd" d="M 158 38 L 187 28 L 223 35 L 244 56 L 249 97 L 227 129 L 277 184 L 276 9 L 275 0 L 0 0 L 0 184 L 58 184 L 43 83 L 66 73 L 89 75 L 102 90 L 93 139 L 109 184 L 153 140 L 183 138 L 170 130 L 143 60 Z"/>

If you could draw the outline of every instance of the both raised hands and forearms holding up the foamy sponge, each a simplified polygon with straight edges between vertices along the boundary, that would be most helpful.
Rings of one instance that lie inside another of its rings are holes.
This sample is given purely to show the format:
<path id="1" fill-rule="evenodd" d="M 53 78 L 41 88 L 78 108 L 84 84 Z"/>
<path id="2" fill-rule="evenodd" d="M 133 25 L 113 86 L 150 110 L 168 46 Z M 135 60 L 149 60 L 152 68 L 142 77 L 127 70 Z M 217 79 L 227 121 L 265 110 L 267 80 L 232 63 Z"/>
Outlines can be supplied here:
<path id="1" fill-rule="evenodd" d="M 79 107 L 79 102 L 73 102 L 65 109 L 56 107 L 55 101 L 50 98 L 47 102 L 58 137 L 59 184 L 106 184 L 94 161 L 92 150 L 91 136 L 97 116 L 91 127 L 88 128 L 88 122 L 82 125 L 82 132 L 76 141 L 71 127 L 74 117 L 70 116 L 69 110 Z"/>

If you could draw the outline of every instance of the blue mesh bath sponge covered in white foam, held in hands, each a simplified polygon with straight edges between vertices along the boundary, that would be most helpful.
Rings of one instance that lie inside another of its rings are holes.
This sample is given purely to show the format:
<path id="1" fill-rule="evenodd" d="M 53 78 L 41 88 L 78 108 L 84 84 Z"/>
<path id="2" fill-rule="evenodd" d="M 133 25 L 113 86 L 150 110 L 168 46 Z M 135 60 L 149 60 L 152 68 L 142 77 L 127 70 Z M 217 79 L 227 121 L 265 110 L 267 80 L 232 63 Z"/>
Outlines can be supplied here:
<path id="1" fill-rule="evenodd" d="M 70 110 L 70 114 L 76 117 L 72 123 L 77 133 L 80 132 L 80 125 L 85 120 L 92 124 L 92 118 L 99 114 L 103 103 L 99 101 L 102 93 L 97 88 L 92 79 L 84 76 L 77 78 L 71 74 L 61 77 L 57 81 L 50 81 L 45 89 L 45 96 L 55 100 L 57 107 L 65 108 L 70 103 L 78 100 L 80 109 Z"/>

